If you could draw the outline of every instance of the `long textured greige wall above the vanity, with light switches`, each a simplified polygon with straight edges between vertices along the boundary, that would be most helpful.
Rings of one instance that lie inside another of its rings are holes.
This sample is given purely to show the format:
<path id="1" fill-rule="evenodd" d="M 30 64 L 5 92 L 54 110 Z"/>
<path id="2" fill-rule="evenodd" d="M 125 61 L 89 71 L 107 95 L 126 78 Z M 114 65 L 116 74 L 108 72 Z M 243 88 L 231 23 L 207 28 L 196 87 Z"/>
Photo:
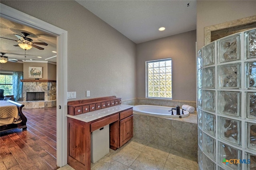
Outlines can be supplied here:
<path id="1" fill-rule="evenodd" d="M 68 91 L 76 99 L 136 97 L 136 45 L 75 1 L 4 1 L 68 31 Z"/>

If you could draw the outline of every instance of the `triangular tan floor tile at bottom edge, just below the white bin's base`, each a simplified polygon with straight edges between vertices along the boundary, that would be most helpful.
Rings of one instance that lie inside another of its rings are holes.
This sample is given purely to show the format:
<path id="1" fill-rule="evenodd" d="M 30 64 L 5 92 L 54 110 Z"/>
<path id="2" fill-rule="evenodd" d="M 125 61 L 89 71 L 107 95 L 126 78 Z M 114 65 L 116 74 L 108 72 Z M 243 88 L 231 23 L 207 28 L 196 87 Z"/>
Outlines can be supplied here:
<path id="1" fill-rule="evenodd" d="M 127 170 L 129 167 L 117 162 L 109 157 L 101 163 L 95 166 L 92 170 Z"/>

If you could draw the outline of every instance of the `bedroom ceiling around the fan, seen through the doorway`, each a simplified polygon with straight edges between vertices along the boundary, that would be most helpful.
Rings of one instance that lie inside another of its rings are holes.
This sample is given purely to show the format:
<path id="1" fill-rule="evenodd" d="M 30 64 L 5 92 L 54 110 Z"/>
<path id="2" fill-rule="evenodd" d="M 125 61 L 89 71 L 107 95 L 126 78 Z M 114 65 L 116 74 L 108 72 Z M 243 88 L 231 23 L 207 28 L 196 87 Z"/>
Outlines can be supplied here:
<path id="1" fill-rule="evenodd" d="M 18 34 L 23 36 L 21 32 L 26 32 L 30 34 L 28 38 L 31 38 L 33 42 L 45 42 L 48 43 L 45 45 L 37 45 L 43 47 L 44 50 L 37 49 L 32 47 L 31 49 L 26 50 L 26 60 L 39 60 L 39 61 L 51 61 L 56 62 L 56 57 L 52 59 L 45 60 L 46 58 L 52 57 L 56 55 L 56 53 L 52 53 L 52 51 L 56 51 L 56 42 L 57 39 L 54 36 L 41 32 L 39 30 L 17 24 L 15 22 L 11 22 L 10 20 L 6 20 L 4 18 L 0 18 L 0 37 L 9 38 L 12 40 L 7 40 L 4 38 L 0 38 L 0 52 L 6 53 L 4 56 L 7 56 L 8 59 L 18 59 L 19 61 L 25 59 L 25 50 L 16 47 L 13 45 L 17 45 L 18 42 L 13 40 L 18 40 L 14 34 Z M 42 57 L 41 59 L 38 56 Z"/>

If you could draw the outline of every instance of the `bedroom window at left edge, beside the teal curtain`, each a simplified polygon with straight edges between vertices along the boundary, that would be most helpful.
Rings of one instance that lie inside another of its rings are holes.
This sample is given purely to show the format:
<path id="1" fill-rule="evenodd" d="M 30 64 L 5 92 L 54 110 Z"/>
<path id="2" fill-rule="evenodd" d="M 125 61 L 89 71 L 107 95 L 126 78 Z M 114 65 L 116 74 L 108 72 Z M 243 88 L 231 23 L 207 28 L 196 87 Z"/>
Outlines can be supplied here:
<path id="1" fill-rule="evenodd" d="M 13 95 L 12 93 L 12 71 L 0 72 L 0 89 L 4 89 L 4 95 Z"/>

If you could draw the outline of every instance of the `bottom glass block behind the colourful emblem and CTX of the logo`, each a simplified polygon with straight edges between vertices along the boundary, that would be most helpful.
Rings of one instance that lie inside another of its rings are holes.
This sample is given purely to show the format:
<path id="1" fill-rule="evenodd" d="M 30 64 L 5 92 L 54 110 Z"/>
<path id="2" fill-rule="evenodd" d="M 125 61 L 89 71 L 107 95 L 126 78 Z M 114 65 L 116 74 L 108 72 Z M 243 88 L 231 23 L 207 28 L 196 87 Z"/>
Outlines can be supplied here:
<path id="1" fill-rule="evenodd" d="M 222 162 L 222 164 L 220 164 L 222 168 L 240 170 L 240 164 L 236 160 L 241 159 L 241 150 L 237 150 L 222 142 L 219 142 L 218 146 L 220 152 L 219 161 Z M 229 161 L 231 163 L 229 163 Z"/>

